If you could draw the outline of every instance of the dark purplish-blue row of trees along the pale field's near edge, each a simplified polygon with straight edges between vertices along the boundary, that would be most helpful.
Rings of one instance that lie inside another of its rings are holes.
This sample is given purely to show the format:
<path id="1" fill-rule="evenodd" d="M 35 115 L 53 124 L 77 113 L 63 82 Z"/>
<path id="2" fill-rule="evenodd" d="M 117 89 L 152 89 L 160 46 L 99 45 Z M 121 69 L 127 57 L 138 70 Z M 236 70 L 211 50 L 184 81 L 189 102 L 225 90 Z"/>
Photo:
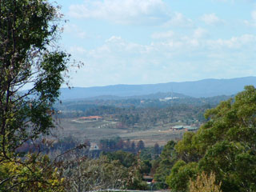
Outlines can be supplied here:
<path id="1" fill-rule="evenodd" d="M 85 149 L 79 149 L 78 146 L 80 146 L 81 144 L 83 146 L 86 146 Z M 120 137 L 101 139 L 99 143 L 96 143 L 97 147 L 95 149 L 90 150 L 90 146 L 90 140 L 86 139 L 84 141 L 79 141 L 77 138 L 74 138 L 72 136 L 58 139 L 43 138 L 37 139 L 34 142 L 23 143 L 22 146 L 20 146 L 16 150 L 16 152 L 23 154 L 26 154 L 28 152 L 42 152 L 44 154 L 50 155 L 50 157 L 54 157 L 54 155 L 56 154 L 65 154 L 66 151 L 72 150 L 77 154 L 79 153 L 81 155 L 98 158 L 102 152 L 114 152 L 122 150 L 133 154 L 137 154 L 138 152 L 141 152 L 142 150 L 146 149 L 145 143 L 142 140 L 135 142 L 131 141 L 129 138 L 124 140 Z M 156 145 L 154 146 L 154 154 L 160 154 L 161 150 L 161 147 L 158 146 L 158 144 L 156 143 Z"/>

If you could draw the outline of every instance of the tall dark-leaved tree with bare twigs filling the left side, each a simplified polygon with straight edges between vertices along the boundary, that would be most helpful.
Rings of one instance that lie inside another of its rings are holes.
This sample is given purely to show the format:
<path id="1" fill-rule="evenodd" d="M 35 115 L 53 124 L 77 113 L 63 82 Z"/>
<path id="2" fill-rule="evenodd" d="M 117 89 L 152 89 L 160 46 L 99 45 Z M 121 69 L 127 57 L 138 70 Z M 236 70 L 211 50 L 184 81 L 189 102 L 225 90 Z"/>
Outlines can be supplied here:
<path id="1" fill-rule="evenodd" d="M 0 167 L 3 171 L 17 167 L 0 174 L 0 188 L 30 191 L 33 188 L 26 186 L 32 184 L 43 191 L 54 188 L 50 184 L 54 172 L 40 177 L 33 169 L 45 162 L 40 155 L 19 158 L 16 150 L 54 128 L 52 105 L 70 59 L 55 46 L 60 17 L 58 7 L 46 0 L 0 1 Z M 37 179 L 30 180 L 33 177 Z"/>

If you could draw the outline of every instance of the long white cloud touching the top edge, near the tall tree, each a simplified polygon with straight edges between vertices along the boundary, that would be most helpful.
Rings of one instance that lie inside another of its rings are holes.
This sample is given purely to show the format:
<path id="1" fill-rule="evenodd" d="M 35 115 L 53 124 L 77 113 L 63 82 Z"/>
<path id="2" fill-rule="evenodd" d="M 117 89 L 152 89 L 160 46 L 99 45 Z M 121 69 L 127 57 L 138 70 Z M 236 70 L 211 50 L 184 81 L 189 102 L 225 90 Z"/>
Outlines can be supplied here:
<path id="1" fill-rule="evenodd" d="M 169 10 L 162 0 L 86 0 L 70 6 L 74 18 L 105 19 L 117 23 L 158 23 L 166 21 Z"/>

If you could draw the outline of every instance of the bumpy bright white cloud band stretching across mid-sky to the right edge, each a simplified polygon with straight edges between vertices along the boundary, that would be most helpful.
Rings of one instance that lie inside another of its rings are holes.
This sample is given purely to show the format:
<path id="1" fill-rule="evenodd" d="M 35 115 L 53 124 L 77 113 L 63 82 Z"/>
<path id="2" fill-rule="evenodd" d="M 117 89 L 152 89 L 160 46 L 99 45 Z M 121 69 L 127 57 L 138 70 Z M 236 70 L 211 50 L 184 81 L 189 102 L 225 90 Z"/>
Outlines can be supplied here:
<path id="1" fill-rule="evenodd" d="M 169 35 L 170 34 L 170 35 Z M 194 30 L 194 33 L 190 35 L 178 35 L 173 34 L 172 31 L 166 31 L 161 33 L 152 34 L 154 36 L 154 42 L 150 45 L 141 45 L 134 42 L 127 42 L 121 37 L 112 36 L 108 38 L 104 45 L 98 47 L 95 50 L 90 50 L 88 54 L 90 57 L 100 58 L 149 58 L 159 54 L 171 55 L 186 55 L 186 53 L 194 53 L 196 56 L 198 51 L 207 54 L 207 51 L 229 52 L 235 50 L 241 50 L 242 53 L 246 52 L 248 47 L 254 47 L 256 43 L 256 36 L 254 34 L 243 34 L 241 36 L 234 36 L 232 38 L 218 38 L 208 39 L 206 37 L 207 31 L 198 28 Z M 245 50 L 243 50 L 245 49 Z M 100 55 L 100 56 L 98 56 Z M 111 56 L 110 56 L 111 55 Z M 158 56 L 157 56 L 158 55 Z M 160 56 L 160 58 L 163 58 Z"/>

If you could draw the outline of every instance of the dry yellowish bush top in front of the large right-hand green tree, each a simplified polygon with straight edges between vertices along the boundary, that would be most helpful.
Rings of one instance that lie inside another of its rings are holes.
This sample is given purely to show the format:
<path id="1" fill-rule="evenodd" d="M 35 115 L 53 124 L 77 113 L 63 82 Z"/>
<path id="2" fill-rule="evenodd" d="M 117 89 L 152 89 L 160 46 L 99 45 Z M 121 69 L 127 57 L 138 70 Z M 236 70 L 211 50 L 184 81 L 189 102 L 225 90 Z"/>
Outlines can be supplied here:
<path id="1" fill-rule="evenodd" d="M 190 192 L 222 192 L 221 185 L 222 182 L 216 184 L 214 173 L 202 172 L 195 181 L 190 179 Z"/>

